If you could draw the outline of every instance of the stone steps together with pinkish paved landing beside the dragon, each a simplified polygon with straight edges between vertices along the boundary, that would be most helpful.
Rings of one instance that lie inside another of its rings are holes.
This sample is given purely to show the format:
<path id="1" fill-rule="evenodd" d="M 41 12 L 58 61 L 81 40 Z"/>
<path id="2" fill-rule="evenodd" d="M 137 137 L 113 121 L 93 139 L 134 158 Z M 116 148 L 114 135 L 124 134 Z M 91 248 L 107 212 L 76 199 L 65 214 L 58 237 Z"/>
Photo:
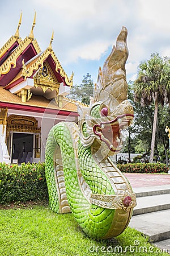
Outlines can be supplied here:
<path id="1" fill-rule="evenodd" d="M 124 175 L 138 196 L 134 212 L 141 208 L 141 213 L 131 218 L 129 226 L 146 234 L 156 247 L 170 254 L 170 174 Z"/>

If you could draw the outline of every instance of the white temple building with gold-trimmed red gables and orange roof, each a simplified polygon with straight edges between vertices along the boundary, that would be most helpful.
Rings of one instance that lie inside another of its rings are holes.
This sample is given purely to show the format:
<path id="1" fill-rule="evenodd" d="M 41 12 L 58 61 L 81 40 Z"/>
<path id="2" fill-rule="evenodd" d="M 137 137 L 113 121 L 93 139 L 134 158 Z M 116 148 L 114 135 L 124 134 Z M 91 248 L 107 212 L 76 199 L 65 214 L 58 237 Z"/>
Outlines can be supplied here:
<path id="1" fill-rule="evenodd" d="M 73 85 L 52 49 L 41 51 L 31 32 L 15 35 L 0 49 L 0 162 L 44 162 L 49 130 L 60 121 L 77 121 Z"/>

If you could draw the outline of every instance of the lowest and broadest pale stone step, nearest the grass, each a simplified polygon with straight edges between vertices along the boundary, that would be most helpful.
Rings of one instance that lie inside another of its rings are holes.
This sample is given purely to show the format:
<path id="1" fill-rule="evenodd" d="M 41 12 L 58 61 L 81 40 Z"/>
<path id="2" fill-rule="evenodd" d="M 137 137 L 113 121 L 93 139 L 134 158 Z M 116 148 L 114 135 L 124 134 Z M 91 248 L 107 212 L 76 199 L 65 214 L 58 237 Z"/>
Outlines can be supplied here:
<path id="1" fill-rule="evenodd" d="M 150 238 L 151 242 L 158 242 L 170 238 L 170 209 L 133 216 L 130 228 L 134 228 Z"/>

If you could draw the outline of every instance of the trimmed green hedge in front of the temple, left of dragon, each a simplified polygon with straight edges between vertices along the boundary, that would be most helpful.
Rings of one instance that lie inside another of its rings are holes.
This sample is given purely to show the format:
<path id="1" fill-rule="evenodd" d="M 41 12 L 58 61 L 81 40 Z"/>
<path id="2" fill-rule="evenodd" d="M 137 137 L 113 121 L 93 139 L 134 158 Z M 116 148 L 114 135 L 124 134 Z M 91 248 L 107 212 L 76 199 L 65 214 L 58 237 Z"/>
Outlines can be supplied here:
<path id="1" fill-rule="evenodd" d="M 0 204 L 48 199 L 45 164 L 0 163 Z"/>

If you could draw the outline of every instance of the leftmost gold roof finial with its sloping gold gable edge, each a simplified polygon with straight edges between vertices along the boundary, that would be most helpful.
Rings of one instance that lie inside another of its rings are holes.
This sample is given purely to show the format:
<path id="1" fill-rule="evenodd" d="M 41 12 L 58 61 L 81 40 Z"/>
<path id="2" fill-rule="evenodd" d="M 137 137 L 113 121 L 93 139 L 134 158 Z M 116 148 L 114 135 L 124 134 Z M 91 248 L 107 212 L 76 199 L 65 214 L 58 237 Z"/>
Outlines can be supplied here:
<path id="1" fill-rule="evenodd" d="M 19 37 L 19 27 L 21 25 L 22 21 L 22 13 L 20 14 L 20 19 L 18 23 L 18 28 L 16 29 L 15 35 L 11 36 L 10 39 L 7 40 L 7 42 L 4 44 L 3 47 L 0 49 L 0 58 L 8 51 L 8 49 L 14 44 L 16 41 L 20 44 L 22 43 L 22 39 Z"/>

